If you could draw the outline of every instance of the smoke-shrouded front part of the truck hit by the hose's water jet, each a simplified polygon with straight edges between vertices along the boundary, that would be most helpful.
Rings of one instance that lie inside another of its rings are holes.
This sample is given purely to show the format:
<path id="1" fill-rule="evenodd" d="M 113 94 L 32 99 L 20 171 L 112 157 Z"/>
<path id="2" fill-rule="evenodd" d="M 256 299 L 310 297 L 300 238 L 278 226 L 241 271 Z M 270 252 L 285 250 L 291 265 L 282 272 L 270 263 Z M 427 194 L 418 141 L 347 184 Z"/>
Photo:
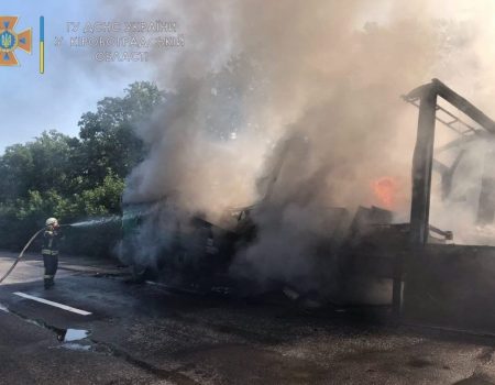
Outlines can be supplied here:
<path id="1" fill-rule="evenodd" d="M 122 256 L 132 265 L 138 282 L 162 279 L 172 286 L 195 287 L 226 285 L 230 283 L 232 256 L 243 242 L 254 237 L 250 210 L 227 210 L 221 221 L 211 223 L 198 213 L 180 210 L 173 198 L 124 204 Z"/>

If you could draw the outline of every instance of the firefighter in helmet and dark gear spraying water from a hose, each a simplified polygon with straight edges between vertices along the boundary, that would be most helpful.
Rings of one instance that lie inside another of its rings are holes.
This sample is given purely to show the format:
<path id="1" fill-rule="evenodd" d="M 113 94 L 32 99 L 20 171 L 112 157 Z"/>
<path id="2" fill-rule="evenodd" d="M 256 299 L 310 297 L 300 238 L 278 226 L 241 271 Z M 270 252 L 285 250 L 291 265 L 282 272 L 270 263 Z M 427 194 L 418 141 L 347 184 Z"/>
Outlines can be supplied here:
<path id="1" fill-rule="evenodd" d="M 47 289 L 54 285 L 54 278 L 58 267 L 58 244 L 63 235 L 56 218 L 48 218 L 45 226 L 42 255 L 45 265 L 45 289 Z"/>

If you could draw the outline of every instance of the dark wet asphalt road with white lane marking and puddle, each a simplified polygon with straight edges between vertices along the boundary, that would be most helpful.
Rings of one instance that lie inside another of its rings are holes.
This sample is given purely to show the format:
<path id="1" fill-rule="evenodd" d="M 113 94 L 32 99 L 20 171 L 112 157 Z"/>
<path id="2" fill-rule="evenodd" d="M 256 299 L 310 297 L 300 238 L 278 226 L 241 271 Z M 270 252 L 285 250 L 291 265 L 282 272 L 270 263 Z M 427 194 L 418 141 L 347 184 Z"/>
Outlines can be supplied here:
<path id="1" fill-rule="evenodd" d="M 495 384 L 490 337 L 132 285 L 90 258 L 63 257 L 51 290 L 42 274 L 30 255 L 0 285 L 0 384 Z"/>

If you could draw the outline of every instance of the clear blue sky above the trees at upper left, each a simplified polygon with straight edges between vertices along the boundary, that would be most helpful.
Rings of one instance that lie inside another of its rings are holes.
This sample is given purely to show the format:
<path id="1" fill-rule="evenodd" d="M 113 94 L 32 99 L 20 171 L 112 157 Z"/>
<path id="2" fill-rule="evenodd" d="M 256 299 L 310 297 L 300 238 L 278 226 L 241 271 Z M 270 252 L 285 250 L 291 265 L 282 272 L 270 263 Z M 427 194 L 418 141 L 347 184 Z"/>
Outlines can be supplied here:
<path id="1" fill-rule="evenodd" d="M 98 63 L 88 48 L 69 48 L 68 21 L 107 21 L 101 1 L 12 0 L 0 3 L 0 15 L 19 16 L 15 32 L 33 29 L 33 51 L 16 50 L 20 66 L 0 66 L 0 153 L 14 143 L 33 140 L 45 130 L 77 135 L 80 116 L 96 110 L 107 96 L 122 96 L 135 80 L 154 80 L 148 63 L 116 66 Z M 38 72 L 40 16 L 45 18 L 45 74 Z M 55 36 L 63 36 L 55 46 Z"/>

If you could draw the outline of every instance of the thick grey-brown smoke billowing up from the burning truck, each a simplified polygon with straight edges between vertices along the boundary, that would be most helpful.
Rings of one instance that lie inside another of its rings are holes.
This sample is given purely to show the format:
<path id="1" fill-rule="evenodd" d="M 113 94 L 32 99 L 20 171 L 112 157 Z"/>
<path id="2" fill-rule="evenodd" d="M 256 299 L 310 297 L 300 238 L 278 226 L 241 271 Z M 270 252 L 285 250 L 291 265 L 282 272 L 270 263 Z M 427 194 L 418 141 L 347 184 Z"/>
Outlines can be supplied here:
<path id="1" fill-rule="evenodd" d="M 433 77 L 468 97 L 472 80 L 484 98 L 493 95 L 485 72 L 495 52 L 482 44 L 494 32 L 479 23 L 488 3 L 448 4 L 446 18 L 427 1 L 167 1 L 153 9 L 155 18 L 177 19 L 186 47 L 155 53 L 169 94 L 138 133 L 151 152 L 130 175 L 125 199 L 174 194 L 179 207 L 215 222 L 226 208 L 264 197 L 258 182 L 277 143 L 297 138 L 270 200 L 253 211 L 257 238 L 234 270 L 318 285 L 316 240 L 339 227 L 323 208 L 376 205 L 408 219 L 417 111 L 399 96 Z"/>

